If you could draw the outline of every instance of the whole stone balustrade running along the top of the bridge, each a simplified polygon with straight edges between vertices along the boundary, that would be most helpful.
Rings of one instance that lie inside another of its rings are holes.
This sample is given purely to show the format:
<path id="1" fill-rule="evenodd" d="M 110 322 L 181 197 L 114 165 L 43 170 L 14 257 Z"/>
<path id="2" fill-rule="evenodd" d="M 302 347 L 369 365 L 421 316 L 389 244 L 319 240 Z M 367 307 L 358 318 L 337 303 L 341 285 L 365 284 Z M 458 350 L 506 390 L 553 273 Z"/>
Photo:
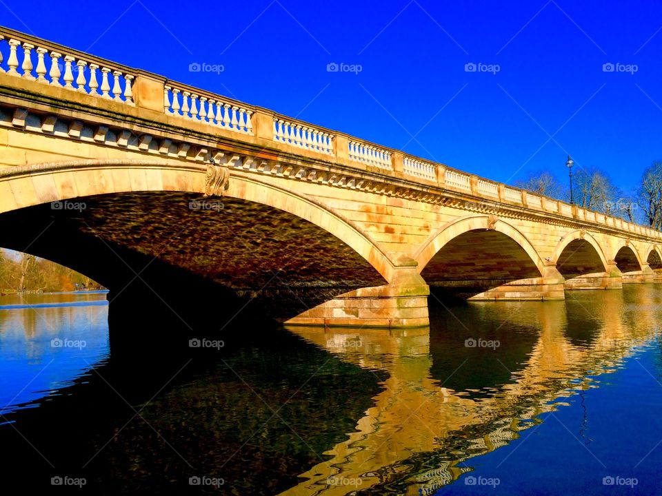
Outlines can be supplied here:
<path id="1" fill-rule="evenodd" d="M 268 134 L 260 137 L 292 147 L 293 153 L 313 153 L 317 157 L 318 154 L 324 154 L 329 156 L 331 161 L 335 158 L 358 169 L 377 167 L 394 177 L 419 181 L 426 185 L 433 183 L 439 188 L 485 198 L 491 203 L 519 205 L 539 210 L 546 215 L 573 218 L 652 238 L 662 238 L 661 232 L 648 227 L 634 225 L 619 218 L 598 214 L 485 178 L 477 178 L 443 164 L 408 156 L 396 149 L 381 147 L 354 136 L 274 114 L 254 105 L 183 83 L 175 83 L 157 74 L 129 68 L 3 27 L 0 27 L 0 73 L 52 87 L 63 87 L 121 105 L 144 105 L 150 110 L 162 109 L 160 112 L 165 115 L 181 118 L 182 127 L 185 127 L 186 122 L 204 123 L 210 126 L 210 132 L 225 130 L 236 133 L 237 140 L 254 139 L 256 112 L 259 110 L 263 115 L 268 114 L 269 123 L 272 121 L 272 131 L 267 128 Z M 134 96 L 134 87 L 137 87 L 140 81 L 163 92 L 163 105 L 159 100 L 160 96 L 157 101 L 150 101 L 149 105 Z M 340 136 L 342 140 L 337 141 Z"/>

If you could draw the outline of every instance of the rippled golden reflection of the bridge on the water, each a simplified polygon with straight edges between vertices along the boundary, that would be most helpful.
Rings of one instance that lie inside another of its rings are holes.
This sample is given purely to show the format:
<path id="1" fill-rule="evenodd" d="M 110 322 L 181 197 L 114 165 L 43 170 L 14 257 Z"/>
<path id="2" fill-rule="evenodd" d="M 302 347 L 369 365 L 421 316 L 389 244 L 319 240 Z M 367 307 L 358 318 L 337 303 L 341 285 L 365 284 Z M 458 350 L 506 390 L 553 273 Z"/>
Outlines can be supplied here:
<path id="1" fill-rule="evenodd" d="M 356 431 L 281 494 L 345 495 L 387 485 L 419 495 L 452 483 L 472 471 L 472 457 L 519 439 L 542 422 L 541 413 L 598 387 L 596 376 L 618 369 L 654 337 L 661 296 L 656 285 L 640 289 L 591 291 L 559 302 L 471 303 L 453 308 L 454 315 L 441 308 L 430 320 L 445 320 L 443 329 L 430 334 L 289 328 L 341 360 L 385 371 L 388 379 Z M 472 329 L 477 323 L 492 329 Z M 465 347 L 467 338 L 499 347 Z"/>

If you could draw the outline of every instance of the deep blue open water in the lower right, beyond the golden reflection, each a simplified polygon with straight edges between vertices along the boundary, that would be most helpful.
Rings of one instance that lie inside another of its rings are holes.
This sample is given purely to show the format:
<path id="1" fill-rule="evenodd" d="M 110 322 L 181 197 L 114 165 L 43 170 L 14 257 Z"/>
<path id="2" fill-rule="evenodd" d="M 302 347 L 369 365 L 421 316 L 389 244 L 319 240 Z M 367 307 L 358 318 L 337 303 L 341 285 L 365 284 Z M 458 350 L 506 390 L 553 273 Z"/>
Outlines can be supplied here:
<path id="1" fill-rule="evenodd" d="M 639 347 L 599 386 L 574 391 L 541 424 L 471 459 L 472 471 L 434 494 L 662 494 L 660 345 L 657 338 Z"/>

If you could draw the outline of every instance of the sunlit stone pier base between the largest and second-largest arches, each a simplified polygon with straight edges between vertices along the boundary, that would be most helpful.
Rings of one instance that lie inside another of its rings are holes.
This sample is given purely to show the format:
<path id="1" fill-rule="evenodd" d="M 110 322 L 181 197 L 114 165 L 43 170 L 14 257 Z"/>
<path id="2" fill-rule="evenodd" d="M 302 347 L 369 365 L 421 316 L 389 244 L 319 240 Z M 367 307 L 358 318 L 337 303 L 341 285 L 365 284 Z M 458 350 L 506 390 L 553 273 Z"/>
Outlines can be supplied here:
<path id="1" fill-rule="evenodd" d="M 384 329 L 428 326 L 430 288 L 418 273 L 416 262 L 396 267 L 393 272 L 394 276 L 388 285 L 344 293 L 285 323 Z"/>

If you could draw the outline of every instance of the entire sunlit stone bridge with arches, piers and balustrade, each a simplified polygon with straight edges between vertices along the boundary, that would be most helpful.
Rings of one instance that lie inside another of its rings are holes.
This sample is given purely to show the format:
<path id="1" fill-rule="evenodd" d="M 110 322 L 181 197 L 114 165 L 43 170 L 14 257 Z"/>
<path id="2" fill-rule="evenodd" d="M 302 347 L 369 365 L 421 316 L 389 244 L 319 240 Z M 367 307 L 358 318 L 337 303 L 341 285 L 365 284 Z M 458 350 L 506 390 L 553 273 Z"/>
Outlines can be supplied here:
<path id="1" fill-rule="evenodd" d="M 214 286 L 289 324 L 419 327 L 430 289 L 662 280 L 661 236 L 0 28 L 0 245 L 113 298 Z"/>

